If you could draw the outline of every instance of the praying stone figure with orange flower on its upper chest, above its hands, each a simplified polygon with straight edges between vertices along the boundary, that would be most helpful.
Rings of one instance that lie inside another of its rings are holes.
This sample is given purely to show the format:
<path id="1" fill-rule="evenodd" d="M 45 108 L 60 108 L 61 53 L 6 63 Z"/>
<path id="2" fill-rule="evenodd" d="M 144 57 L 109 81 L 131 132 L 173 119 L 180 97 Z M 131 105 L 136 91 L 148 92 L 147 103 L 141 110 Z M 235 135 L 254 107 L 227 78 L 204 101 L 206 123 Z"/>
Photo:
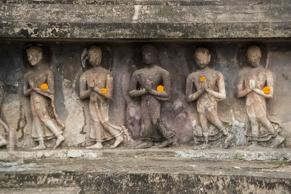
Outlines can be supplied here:
<path id="1" fill-rule="evenodd" d="M 226 89 L 222 73 L 209 68 L 210 57 L 208 49 L 195 50 L 194 62 L 198 70 L 190 74 L 186 82 L 187 101 L 197 100 L 198 122 L 194 135 L 203 144 L 196 149 L 207 148 L 209 140 L 217 140 L 223 134 L 227 136 L 225 148 L 234 139 L 234 135 L 229 132 L 230 123 L 222 121 L 217 114 L 217 103 L 226 99 Z"/>

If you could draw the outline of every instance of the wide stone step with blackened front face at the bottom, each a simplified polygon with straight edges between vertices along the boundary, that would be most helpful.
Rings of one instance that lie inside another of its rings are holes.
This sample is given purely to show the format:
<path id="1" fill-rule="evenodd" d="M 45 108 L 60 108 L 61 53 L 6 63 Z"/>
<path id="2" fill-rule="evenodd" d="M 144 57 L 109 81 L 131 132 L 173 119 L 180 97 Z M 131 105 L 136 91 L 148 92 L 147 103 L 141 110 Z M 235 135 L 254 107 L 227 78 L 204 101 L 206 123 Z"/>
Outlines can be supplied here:
<path id="1" fill-rule="evenodd" d="M 0 191 L 80 188 L 82 194 L 290 194 L 291 166 L 283 163 L 158 157 L 41 158 L 0 168 Z"/>

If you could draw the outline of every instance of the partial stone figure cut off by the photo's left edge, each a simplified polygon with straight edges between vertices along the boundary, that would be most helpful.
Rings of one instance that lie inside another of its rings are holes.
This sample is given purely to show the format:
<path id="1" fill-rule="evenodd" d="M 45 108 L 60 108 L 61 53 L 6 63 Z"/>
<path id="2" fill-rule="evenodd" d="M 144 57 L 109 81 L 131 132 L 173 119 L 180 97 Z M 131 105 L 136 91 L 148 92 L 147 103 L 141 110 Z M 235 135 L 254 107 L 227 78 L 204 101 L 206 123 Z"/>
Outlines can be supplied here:
<path id="1" fill-rule="evenodd" d="M 0 147 L 8 145 L 8 141 L 5 139 L 5 136 L 8 135 L 9 128 L 7 126 L 7 119 L 4 114 L 4 106 L 6 106 L 6 99 L 5 94 L 2 89 L 1 81 L 0 81 L 0 111 L 1 111 L 1 118 L 0 118 Z M 5 121 L 3 121 L 3 120 Z"/>

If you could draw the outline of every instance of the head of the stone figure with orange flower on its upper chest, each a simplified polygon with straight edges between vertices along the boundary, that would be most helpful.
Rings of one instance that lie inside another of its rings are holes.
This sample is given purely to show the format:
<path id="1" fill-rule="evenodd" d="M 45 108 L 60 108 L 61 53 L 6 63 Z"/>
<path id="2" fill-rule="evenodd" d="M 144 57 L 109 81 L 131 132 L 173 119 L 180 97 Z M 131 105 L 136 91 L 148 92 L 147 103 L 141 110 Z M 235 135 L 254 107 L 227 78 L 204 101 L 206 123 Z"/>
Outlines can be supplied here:
<path id="1" fill-rule="evenodd" d="M 209 65 L 210 58 L 211 55 L 209 53 L 209 49 L 199 47 L 194 52 L 194 61 L 199 69 L 203 69 Z"/>

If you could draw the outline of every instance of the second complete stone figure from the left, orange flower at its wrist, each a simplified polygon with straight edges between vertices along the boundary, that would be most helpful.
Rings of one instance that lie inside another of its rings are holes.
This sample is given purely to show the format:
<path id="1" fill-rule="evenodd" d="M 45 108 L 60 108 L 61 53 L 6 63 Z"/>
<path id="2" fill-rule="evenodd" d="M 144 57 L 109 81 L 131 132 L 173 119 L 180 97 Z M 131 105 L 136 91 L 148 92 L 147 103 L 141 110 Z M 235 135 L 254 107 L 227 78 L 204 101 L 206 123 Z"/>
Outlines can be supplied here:
<path id="1" fill-rule="evenodd" d="M 110 148 L 115 148 L 124 140 L 123 130 L 109 121 L 109 99 L 113 99 L 112 73 L 101 67 L 102 50 L 97 46 L 88 49 L 88 61 L 93 66 L 81 74 L 80 97 L 90 98 L 89 111 L 91 115 L 91 141 L 96 142 L 87 149 L 101 149 L 102 142 L 115 139 Z"/>

